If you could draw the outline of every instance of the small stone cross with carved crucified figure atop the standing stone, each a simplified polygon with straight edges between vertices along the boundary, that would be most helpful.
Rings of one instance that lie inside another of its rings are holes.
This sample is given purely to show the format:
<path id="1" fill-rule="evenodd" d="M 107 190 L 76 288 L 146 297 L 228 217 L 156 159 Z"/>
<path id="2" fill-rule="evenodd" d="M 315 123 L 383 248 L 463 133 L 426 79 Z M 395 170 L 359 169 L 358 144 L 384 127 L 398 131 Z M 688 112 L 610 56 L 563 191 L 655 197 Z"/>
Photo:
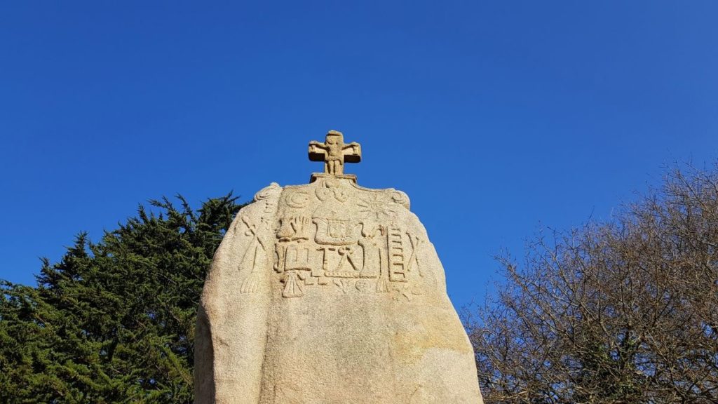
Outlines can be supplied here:
<path id="1" fill-rule="evenodd" d="M 309 160 L 323 161 L 326 174 L 343 175 L 345 162 L 361 161 L 361 146 L 357 142 L 345 143 L 342 132 L 330 130 L 324 143 L 309 142 Z"/>

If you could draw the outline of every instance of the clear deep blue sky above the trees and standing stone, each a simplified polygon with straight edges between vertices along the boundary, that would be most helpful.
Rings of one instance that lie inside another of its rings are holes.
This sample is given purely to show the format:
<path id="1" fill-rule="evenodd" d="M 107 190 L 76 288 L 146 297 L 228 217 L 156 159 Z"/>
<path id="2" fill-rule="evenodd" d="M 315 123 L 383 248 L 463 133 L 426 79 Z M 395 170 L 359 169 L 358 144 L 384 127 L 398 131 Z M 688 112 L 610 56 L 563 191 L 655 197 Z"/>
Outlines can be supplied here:
<path id="1" fill-rule="evenodd" d="M 717 157 L 718 2 L 5 1 L 0 277 L 149 198 L 306 183 L 327 129 L 482 300 L 500 249 Z"/>

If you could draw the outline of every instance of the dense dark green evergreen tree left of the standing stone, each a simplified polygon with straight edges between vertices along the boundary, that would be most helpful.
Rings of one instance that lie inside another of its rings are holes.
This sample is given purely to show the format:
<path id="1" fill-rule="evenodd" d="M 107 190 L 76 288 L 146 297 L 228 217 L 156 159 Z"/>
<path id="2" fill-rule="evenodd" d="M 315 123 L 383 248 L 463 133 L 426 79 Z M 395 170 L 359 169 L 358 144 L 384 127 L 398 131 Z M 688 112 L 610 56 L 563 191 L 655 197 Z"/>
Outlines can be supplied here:
<path id="1" fill-rule="evenodd" d="M 192 403 L 197 304 L 241 205 L 177 199 L 79 234 L 37 288 L 0 280 L 0 403 Z"/>

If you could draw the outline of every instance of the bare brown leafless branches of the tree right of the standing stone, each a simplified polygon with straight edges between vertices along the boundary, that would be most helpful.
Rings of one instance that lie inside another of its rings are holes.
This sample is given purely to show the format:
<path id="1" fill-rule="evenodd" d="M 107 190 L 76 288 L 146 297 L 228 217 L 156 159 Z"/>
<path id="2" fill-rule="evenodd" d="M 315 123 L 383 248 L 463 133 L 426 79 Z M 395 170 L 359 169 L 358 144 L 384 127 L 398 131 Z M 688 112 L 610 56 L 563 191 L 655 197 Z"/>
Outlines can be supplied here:
<path id="1" fill-rule="evenodd" d="M 540 234 L 465 321 L 488 403 L 718 402 L 718 170 Z"/>

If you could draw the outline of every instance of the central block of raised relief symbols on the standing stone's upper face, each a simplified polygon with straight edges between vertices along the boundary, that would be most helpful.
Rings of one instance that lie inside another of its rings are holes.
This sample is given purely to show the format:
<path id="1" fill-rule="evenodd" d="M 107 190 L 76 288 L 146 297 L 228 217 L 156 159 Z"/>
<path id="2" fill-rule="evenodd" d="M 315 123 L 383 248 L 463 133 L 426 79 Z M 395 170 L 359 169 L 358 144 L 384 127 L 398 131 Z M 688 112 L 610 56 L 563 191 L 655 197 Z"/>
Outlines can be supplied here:
<path id="1" fill-rule="evenodd" d="M 411 293 L 419 237 L 396 224 L 403 193 L 361 193 L 328 178 L 288 190 L 276 219 L 274 270 L 284 298 L 325 293 Z M 312 213 L 309 213 L 312 212 Z M 248 227 L 248 229 L 250 229 Z M 264 249 L 264 247 L 258 247 Z"/>

